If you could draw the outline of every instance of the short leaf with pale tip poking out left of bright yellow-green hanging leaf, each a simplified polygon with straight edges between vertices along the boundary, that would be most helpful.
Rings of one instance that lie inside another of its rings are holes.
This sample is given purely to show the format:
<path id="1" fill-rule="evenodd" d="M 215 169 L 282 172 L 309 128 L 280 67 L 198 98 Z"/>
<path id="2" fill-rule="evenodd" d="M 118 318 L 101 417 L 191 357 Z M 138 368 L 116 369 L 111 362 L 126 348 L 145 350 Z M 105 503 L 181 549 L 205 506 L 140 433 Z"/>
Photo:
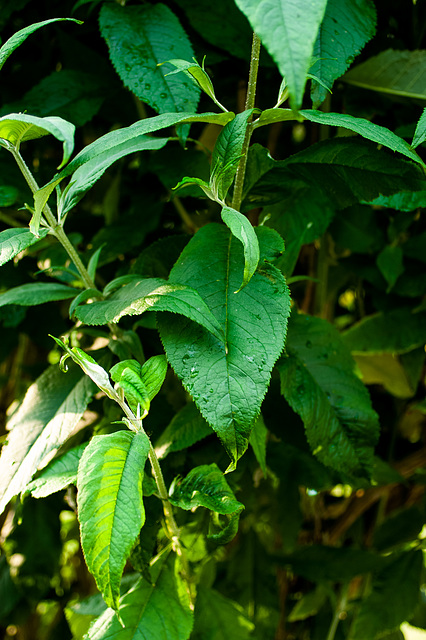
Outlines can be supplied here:
<path id="1" fill-rule="evenodd" d="M 25 491 L 33 498 L 46 498 L 52 493 L 66 489 L 77 483 L 78 463 L 83 455 L 87 442 L 70 449 L 59 458 L 53 460 L 29 485 Z"/>

